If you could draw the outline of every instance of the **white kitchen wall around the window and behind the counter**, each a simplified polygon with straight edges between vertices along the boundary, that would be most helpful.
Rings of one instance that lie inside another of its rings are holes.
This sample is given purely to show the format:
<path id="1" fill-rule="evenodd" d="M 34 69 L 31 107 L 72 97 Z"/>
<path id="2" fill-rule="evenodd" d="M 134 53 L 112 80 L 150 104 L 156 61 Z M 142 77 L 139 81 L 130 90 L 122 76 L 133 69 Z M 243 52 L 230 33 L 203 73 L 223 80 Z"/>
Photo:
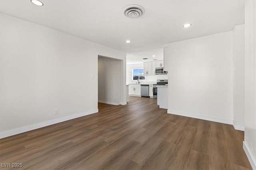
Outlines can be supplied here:
<path id="1" fill-rule="evenodd" d="M 132 80 L 132 69 L 133 68 L 143 68 L 144 64 L 127 64 L 126 65 L 126 83 L 136 83 L 137 80 Z M 158 75 L 152 75 L 152 76 L 145 76 L 145 80 L 142 80 L 141 82 L 156 82 L 157 79 L 168 79 L 167 74 L 158 74 Z"/>

